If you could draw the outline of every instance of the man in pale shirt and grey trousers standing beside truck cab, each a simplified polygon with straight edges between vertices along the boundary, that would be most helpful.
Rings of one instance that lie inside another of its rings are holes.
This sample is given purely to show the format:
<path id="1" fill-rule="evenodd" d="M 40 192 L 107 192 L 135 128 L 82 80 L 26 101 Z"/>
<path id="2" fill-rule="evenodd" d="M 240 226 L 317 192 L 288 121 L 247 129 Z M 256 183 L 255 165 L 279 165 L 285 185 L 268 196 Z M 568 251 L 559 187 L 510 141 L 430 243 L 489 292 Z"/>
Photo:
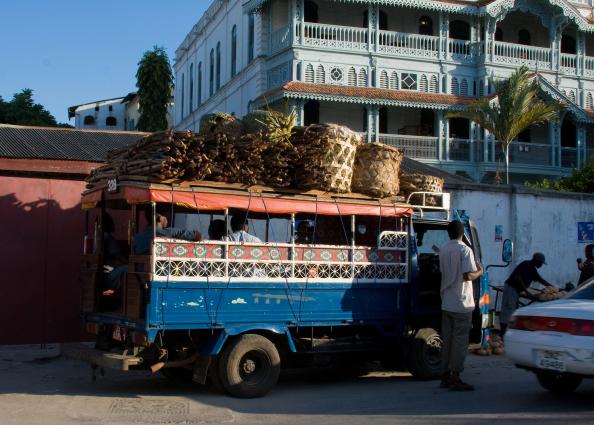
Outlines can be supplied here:
<path id="1" fill-rule="evenodd" d="M 440 387 L 469 391 L 474 387 L 460 379 L 468 352 L 472 328 L 474 294 L 472 281 L 483 275 L 472 250 L 462 242 L 464 225 L 454 220 L 448 224 L 450 241 L 439 250 L 441 270 L 442 377 Z"/>

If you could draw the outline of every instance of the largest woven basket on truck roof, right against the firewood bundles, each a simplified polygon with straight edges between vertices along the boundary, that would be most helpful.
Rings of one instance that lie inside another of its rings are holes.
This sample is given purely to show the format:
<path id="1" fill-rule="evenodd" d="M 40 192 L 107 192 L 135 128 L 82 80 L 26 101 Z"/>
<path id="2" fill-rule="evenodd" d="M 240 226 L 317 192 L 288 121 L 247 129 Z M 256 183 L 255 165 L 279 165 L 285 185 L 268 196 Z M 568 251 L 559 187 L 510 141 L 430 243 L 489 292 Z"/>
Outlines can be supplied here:
<path id="1" fill-rule="evenodd" d="M 296 187 L 350 192 L 357 145 L 361 143 L 358 134 L 336 124 L 312 124 L 303 132 L 296 129 L 292 142 L 299 154 L 294 169 Z"/>

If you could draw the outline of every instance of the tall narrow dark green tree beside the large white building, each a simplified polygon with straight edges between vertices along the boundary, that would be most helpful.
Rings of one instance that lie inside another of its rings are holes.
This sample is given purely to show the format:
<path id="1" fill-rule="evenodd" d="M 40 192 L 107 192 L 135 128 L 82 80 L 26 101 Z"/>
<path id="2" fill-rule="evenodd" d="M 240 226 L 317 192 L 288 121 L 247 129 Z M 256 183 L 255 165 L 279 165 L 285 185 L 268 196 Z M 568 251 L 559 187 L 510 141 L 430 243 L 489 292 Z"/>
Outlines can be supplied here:
<path id="1" fill-rule="evenodd" d="M 140 131 L 160 131 L 167 128 L 167 107 L 171 102 L 173 74 L 165 49 L 155 46 L 144 52 L 136 72 Z"/>

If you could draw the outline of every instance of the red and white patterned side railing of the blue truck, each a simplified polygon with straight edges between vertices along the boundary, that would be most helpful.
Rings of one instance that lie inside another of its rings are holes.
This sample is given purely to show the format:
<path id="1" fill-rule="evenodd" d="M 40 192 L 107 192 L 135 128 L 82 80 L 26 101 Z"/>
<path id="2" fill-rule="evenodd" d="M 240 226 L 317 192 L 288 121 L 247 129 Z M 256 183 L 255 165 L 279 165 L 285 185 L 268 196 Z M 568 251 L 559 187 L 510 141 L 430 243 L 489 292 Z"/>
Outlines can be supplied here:
<path id="1" fill-rule="evenodd" d="M 158 238 L 153 279 L 175 282 L 406 281 L 408 236 L 382 232 L 380 248 L 185 242 Z"/>

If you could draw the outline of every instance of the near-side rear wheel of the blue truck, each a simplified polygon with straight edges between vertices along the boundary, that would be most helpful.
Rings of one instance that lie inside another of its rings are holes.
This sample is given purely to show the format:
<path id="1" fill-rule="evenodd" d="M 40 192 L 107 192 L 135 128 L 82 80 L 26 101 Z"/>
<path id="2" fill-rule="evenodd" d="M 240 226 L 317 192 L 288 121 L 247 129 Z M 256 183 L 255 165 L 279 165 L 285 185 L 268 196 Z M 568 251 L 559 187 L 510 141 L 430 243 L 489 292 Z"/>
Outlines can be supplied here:
<path id="1" fill-rule="evenodd" d="M 274 344 L 261 335 L 241 335 L 225 348 L 219 362 L 219 377 L 235 397 L 261 397 L 276 385 L 280 355 Z"/>

